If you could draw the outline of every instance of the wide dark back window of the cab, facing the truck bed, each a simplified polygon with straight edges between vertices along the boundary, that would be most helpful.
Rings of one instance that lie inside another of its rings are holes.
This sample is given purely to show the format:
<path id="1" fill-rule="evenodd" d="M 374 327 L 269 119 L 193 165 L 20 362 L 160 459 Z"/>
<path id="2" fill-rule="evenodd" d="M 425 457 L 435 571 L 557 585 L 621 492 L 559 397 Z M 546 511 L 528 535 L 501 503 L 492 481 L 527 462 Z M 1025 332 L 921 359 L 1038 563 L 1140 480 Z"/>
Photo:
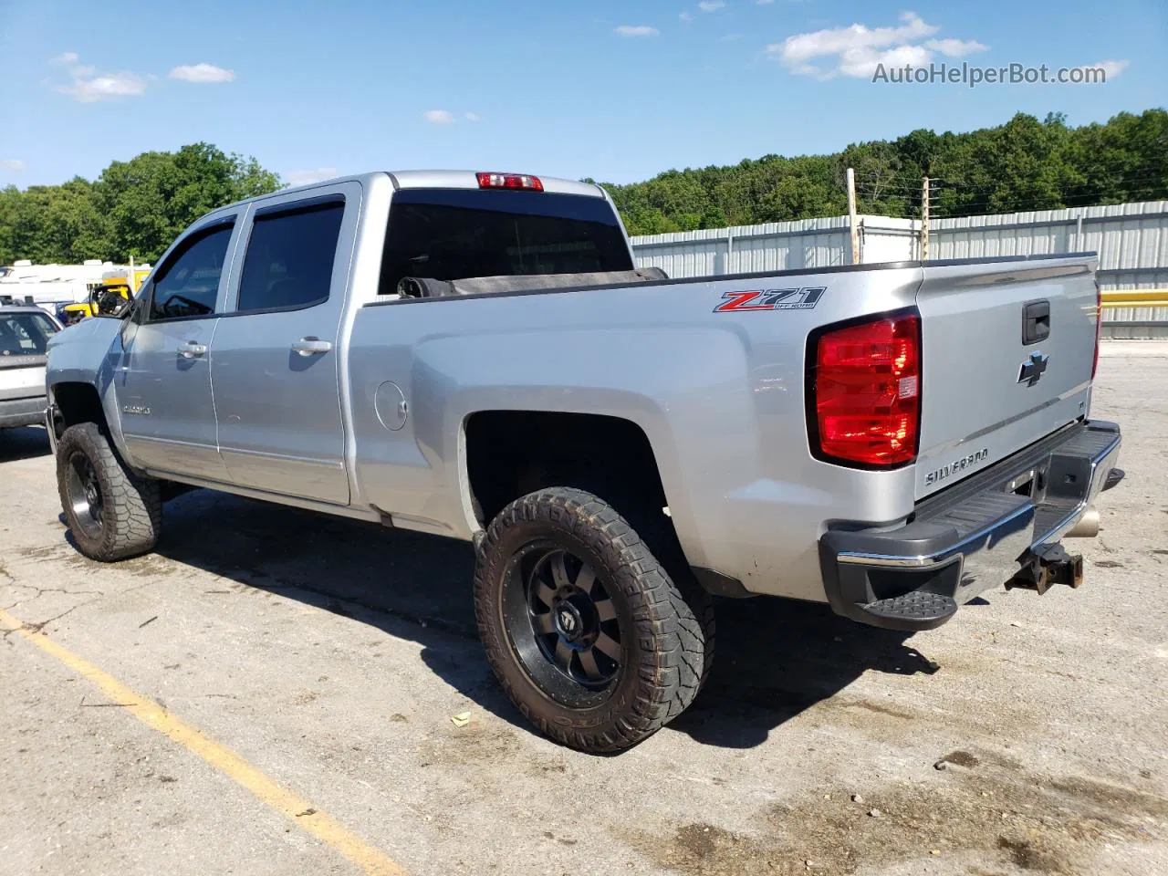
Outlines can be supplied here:
<path id="1" fill-rule="evenodd" d="M 632 269 L 620 223 L 604 199 L 402 189 L 389 210 L 378 292 L 392 294 L 403 277 L 460 280 Z"/>

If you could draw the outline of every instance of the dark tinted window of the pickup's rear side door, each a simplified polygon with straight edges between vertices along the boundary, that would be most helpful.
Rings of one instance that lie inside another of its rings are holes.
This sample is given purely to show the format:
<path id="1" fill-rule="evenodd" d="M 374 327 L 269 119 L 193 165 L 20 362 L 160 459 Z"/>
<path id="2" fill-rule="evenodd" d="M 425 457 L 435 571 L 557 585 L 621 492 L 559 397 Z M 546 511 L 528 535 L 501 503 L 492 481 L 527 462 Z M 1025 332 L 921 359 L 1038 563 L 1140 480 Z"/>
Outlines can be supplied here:
<path id="1" fill-rule="evenodd" d="M 343 215 L 343 201 L 328 201 L 256 216 L 237 310 L 290 311 L 327 301 Z"/>

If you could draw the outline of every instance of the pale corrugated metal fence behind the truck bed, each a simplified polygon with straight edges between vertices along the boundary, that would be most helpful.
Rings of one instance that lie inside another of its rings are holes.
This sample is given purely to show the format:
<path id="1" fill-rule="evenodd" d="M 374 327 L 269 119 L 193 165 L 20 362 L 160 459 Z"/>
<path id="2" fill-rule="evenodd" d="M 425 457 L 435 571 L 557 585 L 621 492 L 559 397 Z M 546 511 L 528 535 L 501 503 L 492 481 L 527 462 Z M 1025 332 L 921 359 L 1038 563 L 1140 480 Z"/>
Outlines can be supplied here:
<path id="1" fill-rule="evenodd" d="M 920 223 L 861 216 L 861 262 L 920 257 Z M 633 238 L 638 264 L 670 277 L 707 277 L 846 265 L 848 217 L 770 222 Z M 1110 288 L 1168 290 L 1168 201 L 933 220 L 929 258 L 978 258 L 1057 252 L 1099 253 L 1099 280 Z M 1168 294 L 1168 293 L 1166 293 Z M 1168 332 L 1168 307 L 1110 307 L 1108 334 Z M 1146 324 L 1164 324 L 1147 327 Z M 1132 329 L 1131 332 L 1124 329 Z"/>

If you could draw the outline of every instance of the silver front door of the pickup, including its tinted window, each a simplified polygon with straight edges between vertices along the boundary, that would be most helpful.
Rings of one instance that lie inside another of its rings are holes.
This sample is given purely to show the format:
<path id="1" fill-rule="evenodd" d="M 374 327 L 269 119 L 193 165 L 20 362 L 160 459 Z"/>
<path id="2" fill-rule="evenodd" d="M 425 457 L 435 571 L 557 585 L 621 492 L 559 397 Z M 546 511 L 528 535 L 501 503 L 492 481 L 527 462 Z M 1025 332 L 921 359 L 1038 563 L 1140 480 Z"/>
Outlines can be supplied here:
<path id="1" fill-rule="evenodd" d="M 210 347 L 234 217 L 196 229 L 159 265 L 123 328 L 116 375 L 126 449 L 144 468 L 227 480 L 216 440 Z"/>

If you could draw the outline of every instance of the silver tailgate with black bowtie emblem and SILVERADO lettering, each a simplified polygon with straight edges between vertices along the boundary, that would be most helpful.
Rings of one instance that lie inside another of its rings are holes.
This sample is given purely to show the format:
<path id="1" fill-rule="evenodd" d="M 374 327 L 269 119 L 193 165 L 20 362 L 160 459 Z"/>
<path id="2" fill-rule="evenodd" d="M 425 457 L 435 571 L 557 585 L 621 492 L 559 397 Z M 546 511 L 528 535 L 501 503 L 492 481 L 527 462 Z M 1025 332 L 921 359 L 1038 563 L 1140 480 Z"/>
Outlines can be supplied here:
<path id="1" fill-rule="evenodd" d="M 1087 412 L 1094 266 L 1093 256 L 926 264 L 917 499 Z"/>

